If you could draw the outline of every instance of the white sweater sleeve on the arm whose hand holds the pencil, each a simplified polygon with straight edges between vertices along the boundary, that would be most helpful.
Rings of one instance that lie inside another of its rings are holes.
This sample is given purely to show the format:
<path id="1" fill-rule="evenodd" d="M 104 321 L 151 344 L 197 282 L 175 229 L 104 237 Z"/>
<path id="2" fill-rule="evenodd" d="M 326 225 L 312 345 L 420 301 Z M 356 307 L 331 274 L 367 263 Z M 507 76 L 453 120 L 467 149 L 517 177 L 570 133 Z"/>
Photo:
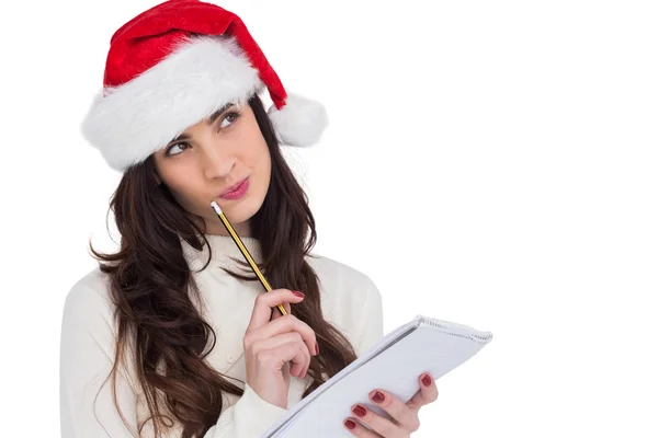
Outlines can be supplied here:
<path id="1" fill-rule="evenodd" d="M 77 285 L 64 306 L 60 339 L 60 430 L 63 438 L 133 438 L 137 396 L 120 368 L 114 404 L 115 330 L 112 309 L 97 290 Z M 262 400 L 249 384 L 203 438 L 260 438 L 287 410 Z M 127 423 L 127 425 L 126 425 Z M 151 438 L 149 424 L 144 437 Z"/>

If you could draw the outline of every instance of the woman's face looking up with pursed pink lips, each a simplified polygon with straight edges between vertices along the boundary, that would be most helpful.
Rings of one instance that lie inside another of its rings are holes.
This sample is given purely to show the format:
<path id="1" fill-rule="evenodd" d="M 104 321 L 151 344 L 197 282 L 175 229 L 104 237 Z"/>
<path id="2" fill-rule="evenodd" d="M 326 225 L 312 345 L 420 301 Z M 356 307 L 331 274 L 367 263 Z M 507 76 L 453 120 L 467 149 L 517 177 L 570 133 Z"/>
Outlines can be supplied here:
<path id="1" fill-rule="evenodd" d="M 249 219 L 268 193 L 271 160 L 249 104 L 226 106 L 188 127 L 154 159 L 158 182 L 185 210 L 203 218 L 207 233 L 228 235 L 211 207 L 215 200 L 238 234 L 251 235 Z M 245 178 L 238 193 L 222 196 Z"/>

